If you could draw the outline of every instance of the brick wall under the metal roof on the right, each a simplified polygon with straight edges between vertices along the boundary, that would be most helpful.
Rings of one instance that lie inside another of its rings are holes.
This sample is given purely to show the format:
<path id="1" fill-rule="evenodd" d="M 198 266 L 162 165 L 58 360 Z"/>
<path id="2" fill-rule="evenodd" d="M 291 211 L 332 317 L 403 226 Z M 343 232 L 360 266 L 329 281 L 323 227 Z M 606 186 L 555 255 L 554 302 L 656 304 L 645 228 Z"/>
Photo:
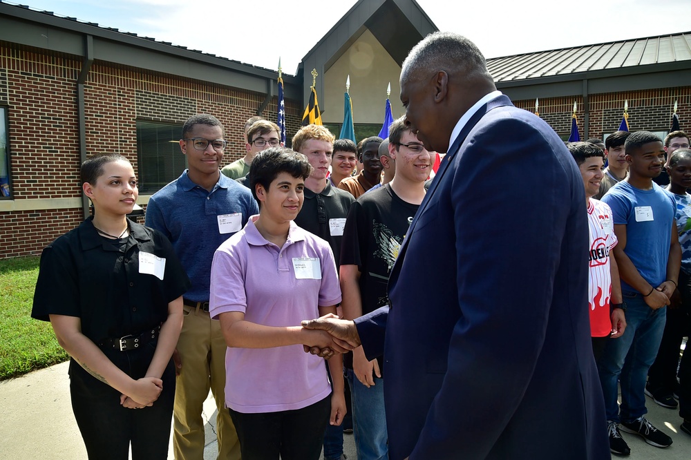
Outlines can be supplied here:
<path id="1" fill-rule="evenodd" d="M 571 111 L 574 108 L 574 100 L 578 104 L 576 117 L 578 117 L 580 137 L 585 140 L 583 97 L 540 99 L 540 117 L 545 119 L 560 136 L 568 138 L 571 132 Z M 678 104 L 676 114 L 679 115 L 681 128 L 691 131 L 691 86 L 590 95 L 588 137 L 603 139 L 605 134 L 617 131 L 625 101 L 629 104 L 629 131 L 669 131 L 675 100 Z M 513 101 L 513 104 L 527 111 L 535 111 L 535 99 Z"/>

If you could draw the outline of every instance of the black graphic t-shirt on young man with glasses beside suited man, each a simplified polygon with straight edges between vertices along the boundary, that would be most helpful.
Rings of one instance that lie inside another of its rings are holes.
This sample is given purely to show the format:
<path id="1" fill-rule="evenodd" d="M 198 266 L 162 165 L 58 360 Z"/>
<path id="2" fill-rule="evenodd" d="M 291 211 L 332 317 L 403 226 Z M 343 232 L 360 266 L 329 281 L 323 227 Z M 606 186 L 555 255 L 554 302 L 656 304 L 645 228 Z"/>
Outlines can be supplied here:
<path id="1" fill-rule="evenodd" d="M 401 242 L 419 208 L 401 200 L 389 184 L 361 195 L 350 207 L 343 229 L 341 265 L 360 271 L 362 314 L 388 303 L 387 286 Z M 381 359 L 379 368 L 381 369 Z M 352 359 L 344 359 L 352 368 Z"/>

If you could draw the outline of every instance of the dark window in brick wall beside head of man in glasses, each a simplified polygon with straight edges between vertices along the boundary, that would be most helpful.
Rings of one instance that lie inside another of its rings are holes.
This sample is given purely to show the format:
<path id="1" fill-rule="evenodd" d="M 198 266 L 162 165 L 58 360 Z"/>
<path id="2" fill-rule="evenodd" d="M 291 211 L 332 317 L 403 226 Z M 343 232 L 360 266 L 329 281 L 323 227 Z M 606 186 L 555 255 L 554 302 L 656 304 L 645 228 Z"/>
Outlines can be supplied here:
<path id="1" fill-rule="evenodd" d="M 174 124 L 137 122 L 140 193 L 155 193 L 187 168 L 180 151 L 180 131 Z"/>

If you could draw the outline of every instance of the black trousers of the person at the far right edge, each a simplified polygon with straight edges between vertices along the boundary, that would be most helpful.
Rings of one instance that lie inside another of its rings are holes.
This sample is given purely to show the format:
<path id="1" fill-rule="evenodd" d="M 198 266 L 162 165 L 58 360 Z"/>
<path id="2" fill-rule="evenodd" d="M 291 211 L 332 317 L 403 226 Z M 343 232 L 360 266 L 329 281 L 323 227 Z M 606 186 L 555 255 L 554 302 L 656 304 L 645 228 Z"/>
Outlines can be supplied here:
<path id="1" fill-rule="evenodd" d="M 648 371 L 648 385 L 652 392 L 662 390 L 671 394 L 677 388 L 676 367 L 679 365 L 679 349 L 683 337 L 689 333 L 689 312 L 691 310 L 689 282 L 689 276 L 680 271 L 681 307 L 667 307 L 667 323 L 665 323 L 665 332 L 660 342 L 660 349 L 657 352 L 655 362 Z"/>

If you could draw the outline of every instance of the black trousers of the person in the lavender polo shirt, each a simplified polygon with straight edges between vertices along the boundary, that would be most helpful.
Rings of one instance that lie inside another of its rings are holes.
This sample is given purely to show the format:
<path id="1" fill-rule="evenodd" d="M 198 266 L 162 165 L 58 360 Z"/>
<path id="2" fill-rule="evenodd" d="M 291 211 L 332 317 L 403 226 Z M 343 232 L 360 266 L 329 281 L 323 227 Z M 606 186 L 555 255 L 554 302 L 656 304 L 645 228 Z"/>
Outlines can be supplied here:
<path id="1" fill-rule="evenodd" d="M 229 409 L 243 459 L 319 460 L 331 396 L 297 410 L 243 414 Z"/>

